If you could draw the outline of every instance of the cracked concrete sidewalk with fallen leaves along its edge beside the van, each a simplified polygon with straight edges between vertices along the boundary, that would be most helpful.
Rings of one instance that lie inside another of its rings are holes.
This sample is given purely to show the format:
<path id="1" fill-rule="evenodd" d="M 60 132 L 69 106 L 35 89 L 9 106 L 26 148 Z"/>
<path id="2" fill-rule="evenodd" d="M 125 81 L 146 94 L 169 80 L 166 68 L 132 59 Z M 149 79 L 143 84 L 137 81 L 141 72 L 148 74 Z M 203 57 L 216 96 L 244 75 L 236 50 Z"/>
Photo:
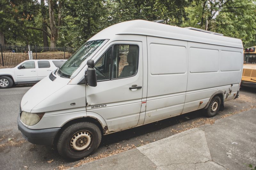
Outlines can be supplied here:
<path id="1" fill-rule="evenodd" d="M 256 109 L 71 169 L 249 170 L 249 164 L 256 166 Z"/>

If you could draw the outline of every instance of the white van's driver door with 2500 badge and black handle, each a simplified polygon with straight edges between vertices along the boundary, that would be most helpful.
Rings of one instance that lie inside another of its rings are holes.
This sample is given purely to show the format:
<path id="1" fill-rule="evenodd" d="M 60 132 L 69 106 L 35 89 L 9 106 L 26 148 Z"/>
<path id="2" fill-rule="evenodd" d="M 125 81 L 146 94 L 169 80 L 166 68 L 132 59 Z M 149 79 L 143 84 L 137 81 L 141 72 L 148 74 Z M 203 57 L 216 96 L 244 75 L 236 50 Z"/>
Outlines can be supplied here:
<path id="1" fill-rule="evenodd" d="M 115 42 L 96 59 L 97 86 L 86 86 L 86 110 L 103 117 L 109 132 L 138 124 L 143 85 L 141 46 L 141 42 Z"/>

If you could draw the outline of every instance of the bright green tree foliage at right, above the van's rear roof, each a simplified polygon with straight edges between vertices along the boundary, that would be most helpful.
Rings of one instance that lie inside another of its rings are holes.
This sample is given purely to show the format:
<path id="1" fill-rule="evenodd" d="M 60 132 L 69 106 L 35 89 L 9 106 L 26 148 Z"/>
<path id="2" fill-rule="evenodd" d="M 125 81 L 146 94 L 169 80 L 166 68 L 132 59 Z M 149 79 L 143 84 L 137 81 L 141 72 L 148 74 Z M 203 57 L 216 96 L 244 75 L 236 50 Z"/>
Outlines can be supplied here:
<path id="1" fill-rule="evenodd" d="M 209 31 L 242 39 L 244 47 L 256 45 L 256 3 L 253 0 L 199 0 L 185 10 L 188 20 L 183 27 L 205 29 L 207 20 Z"/>

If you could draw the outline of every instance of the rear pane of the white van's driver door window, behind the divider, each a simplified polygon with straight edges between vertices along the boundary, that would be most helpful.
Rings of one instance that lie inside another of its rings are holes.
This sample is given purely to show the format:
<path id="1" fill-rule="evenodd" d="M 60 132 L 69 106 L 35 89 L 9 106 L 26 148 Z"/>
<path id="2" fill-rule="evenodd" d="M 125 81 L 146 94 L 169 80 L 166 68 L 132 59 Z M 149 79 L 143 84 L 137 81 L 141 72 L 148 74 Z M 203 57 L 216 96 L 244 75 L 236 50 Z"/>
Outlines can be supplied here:
<path id="1" fill-rule="evenodd" d="M 136 45 L 115 45 L 112 62 L 112 79 L 130 77 L 137 72 L 138 49 Z"/>

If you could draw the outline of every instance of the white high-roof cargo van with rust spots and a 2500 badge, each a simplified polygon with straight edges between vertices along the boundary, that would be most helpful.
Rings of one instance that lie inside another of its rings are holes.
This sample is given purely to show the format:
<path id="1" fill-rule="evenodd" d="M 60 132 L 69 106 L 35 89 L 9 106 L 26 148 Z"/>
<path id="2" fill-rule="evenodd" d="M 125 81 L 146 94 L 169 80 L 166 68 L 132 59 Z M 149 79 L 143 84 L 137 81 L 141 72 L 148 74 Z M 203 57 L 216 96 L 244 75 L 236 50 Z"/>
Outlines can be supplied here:
<path id="1" fill-rule="evenodd" d="M 240 39 L 144 20 L 112 25 L 28 90 L 18 127 L 34 144 L 82 159 L 101 136 L 238 97 Z M 86 75 L 85 75 L 86 74 Z"/>

